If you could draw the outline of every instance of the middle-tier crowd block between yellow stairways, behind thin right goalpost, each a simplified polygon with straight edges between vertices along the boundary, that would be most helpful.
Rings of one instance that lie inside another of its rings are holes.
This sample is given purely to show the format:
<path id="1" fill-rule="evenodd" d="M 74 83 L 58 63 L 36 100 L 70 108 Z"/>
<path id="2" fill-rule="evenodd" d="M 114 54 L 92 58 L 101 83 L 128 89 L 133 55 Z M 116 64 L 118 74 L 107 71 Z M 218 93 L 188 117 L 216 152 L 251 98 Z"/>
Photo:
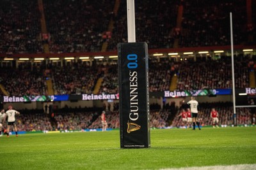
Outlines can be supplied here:
<path id="1" fill-rule="evenodd" d="M 241 59 L 243 58 L 243 59 Z M 241 60 L 240 60 L 241 59 Z M 249 59 L 237 56 L 235 60 L 235 87 L 249 86 Z M 180 62 L 177 89 L 232 89 L 232 68 L 230 57 L 202 62 Z"/>

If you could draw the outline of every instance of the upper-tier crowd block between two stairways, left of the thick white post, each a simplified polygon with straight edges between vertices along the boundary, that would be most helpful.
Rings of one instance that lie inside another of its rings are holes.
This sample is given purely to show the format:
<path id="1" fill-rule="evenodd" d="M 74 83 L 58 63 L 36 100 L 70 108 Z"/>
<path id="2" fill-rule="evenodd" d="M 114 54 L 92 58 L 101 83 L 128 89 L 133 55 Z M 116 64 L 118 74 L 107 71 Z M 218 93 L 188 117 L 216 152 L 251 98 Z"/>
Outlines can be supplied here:
<path id="1" fill-rule="evenodd" d="M 44 1 L 50 52 L 100 52 L 114 2 Z"/>

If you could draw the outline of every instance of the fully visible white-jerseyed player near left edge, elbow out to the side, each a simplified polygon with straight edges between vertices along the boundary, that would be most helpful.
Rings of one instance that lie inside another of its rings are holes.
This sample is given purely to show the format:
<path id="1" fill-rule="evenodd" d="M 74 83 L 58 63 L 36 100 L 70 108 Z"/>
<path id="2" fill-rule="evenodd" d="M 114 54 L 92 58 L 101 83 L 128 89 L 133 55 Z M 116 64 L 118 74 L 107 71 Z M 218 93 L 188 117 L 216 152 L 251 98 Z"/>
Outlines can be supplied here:
<path id="1" fill-rule="evenodd" d="M 18 137 L 18 129 L 15 124 L 15 115 L 19 115 L 19 114 L 20 114 L 19 111 L 13 110 L 12 106 L 8 106 L 8 111 L 6 111 L 6 117 L 7 117 L 7 122 L 8 122 L 7 131 L 6 131 L 7 138 L 9 138 L 9 132 L 10 132 L 11 125 L 13 125 L 16 137 Z"/>

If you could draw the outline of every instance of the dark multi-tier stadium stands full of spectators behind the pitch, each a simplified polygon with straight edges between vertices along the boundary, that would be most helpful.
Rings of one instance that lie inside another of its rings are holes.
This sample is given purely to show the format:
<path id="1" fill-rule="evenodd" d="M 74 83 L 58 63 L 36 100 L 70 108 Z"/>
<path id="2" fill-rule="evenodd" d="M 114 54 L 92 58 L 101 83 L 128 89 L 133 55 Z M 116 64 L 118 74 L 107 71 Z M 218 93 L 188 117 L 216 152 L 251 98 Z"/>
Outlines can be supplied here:
<path id="1" fill-rule="evenodd" d="M 149 50 L 149 92 L 232 89 L 230 12 L 236 46 L 235 87 L 255 89 L 256 2 L 246 2 L 136 1 L 136 41 L 146 42 Z M 118 94 L 117 60 L 109 55 L 117 55 L 118 43 L 127 43 L 126 1 L 2 0 L 0 37 L 1 97 Z M 248 48 L 253 49 L 243 51 Z M 221 49 L 223 52 L 214 52 Z M 207 53 L 199 53 L 205 50 Z M 190 51 L 193 54 L 184 54 Z M 179 54 L 168 55 L 170 52 Z M 93 58 L 99 55 L 104 59 Z M 209 114 L 214 107 L 220 124 L 232 125 L 231 96 L 228 102 L 200 103 L 200 124 L 212 125 Z M 150 127 L 182 126 L 177 100 L 160 104 L 154 97 L 150 99 Z M 101 127 L 100 111 L 108 110 L 108 127 L 119 128 L 118 101 L 113 108 L 99 102 L 102 107 L 70 103 L 53 108 L 53 118 L 42 107 L 24 106 L 17 125 L 19 131 L 97 129 Z M 1 103 L 0 108 L 6 109 L 8 104 Z M 255 110 L 237 108 L 237 124 L 255 124 L 255 119 Z"/>

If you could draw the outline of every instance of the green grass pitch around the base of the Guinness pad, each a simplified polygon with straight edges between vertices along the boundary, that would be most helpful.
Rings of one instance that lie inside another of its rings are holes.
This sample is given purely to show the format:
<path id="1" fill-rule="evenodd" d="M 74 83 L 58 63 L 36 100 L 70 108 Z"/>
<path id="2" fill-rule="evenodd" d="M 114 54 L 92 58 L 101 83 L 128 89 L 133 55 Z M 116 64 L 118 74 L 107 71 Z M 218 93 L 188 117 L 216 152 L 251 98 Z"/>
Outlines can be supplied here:
<path id="1" fill-rule="evenodd" d="M 156 129 L 151 148 L 120 149 L 119 131 L 0 138 L 0 169 L 161 169 L 256 164 L 256 127 Z"/>

